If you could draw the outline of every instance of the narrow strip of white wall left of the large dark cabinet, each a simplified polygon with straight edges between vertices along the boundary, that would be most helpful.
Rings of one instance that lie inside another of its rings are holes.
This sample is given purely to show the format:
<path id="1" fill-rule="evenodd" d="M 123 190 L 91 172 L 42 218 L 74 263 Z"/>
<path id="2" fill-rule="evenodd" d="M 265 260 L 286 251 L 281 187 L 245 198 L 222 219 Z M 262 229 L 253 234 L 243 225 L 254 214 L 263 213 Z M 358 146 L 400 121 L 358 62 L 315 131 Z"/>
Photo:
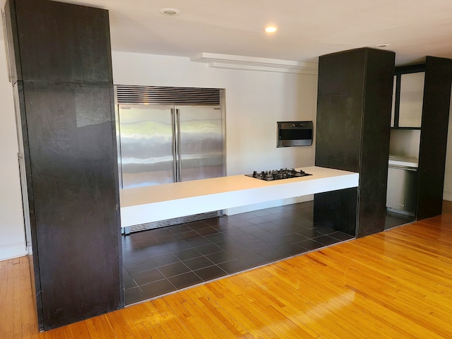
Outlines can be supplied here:
<path id="1" fill-rule="evenodd" d="M 7 78 L 5 55 L 4 42 L 0 40 L 0 260 L 26 254 L 13 90 Z"/>

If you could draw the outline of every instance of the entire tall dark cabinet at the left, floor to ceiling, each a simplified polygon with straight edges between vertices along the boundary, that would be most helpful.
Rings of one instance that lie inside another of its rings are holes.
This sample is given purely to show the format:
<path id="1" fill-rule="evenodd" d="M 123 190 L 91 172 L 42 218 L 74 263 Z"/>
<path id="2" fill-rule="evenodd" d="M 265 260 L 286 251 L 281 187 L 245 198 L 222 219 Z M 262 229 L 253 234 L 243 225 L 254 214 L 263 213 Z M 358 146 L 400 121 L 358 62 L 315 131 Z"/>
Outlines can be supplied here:
<path id="1" fill-rule="evenodd" d="M 41 330 L 124 307 L 108 12 L 8 0 Z"/>

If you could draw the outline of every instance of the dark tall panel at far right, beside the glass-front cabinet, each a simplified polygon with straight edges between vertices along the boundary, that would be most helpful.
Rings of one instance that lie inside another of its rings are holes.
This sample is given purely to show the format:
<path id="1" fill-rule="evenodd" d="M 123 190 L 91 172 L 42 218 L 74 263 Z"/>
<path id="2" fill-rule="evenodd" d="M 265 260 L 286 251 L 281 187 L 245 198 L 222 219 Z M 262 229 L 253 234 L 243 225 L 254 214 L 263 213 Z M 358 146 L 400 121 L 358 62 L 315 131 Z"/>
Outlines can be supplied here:
<path id="1" fill-rule="evenodd" d="M 451 104 L 452 59 L 427 57 L 419 154 L 417 220 L 440 215 Z"/>

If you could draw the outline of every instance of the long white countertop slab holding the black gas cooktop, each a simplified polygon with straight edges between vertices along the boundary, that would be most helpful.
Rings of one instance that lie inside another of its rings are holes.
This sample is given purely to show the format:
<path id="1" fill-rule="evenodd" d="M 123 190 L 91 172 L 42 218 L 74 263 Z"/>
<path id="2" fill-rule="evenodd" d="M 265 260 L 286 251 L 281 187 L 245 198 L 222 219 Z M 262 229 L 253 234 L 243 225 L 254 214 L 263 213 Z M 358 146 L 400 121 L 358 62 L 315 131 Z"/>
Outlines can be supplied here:
<path id="1" fill-rule="evenodd" d="M 273 182 L 232 175 L 121 189 L 121 227 L 358 186 L 355 172 L 302 169 L 312 175 Z"/>

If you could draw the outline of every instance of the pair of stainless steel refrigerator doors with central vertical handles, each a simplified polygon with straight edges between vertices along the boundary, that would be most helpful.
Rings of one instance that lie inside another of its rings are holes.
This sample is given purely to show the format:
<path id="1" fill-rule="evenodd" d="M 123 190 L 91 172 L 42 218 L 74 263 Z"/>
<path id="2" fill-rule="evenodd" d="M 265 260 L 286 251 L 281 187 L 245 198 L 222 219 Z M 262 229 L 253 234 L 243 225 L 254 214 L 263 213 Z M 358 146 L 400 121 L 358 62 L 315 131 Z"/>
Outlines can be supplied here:
<path id="1" fill-rule="evenodd" d="M 119 105 L 121 186 L 225 175 L 219 105 Z"/>

